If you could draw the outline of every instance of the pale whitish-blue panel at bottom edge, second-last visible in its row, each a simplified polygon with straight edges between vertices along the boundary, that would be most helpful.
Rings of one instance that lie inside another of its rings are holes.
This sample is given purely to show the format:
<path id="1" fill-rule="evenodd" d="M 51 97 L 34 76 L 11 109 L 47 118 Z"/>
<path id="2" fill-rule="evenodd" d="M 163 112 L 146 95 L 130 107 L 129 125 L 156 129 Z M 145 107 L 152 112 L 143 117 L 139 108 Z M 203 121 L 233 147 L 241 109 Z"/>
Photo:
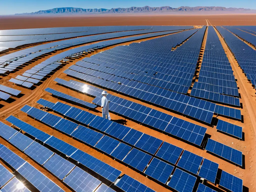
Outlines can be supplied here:
<path id="1" fill-rule="evenodd" d="M 63 182 L 79 192 L 92 192 L 101 184 L 101 181 L 79 167 L 75 167 Z"/>

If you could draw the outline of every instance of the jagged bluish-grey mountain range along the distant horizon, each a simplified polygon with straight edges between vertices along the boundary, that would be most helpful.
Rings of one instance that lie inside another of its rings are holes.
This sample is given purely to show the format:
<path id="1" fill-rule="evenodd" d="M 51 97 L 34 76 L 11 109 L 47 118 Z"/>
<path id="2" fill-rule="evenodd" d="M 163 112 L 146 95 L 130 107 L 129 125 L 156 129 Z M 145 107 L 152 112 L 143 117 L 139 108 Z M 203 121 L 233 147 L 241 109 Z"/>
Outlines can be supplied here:
<path id="1" fill-rule="evenodd" d="M 74 7 L 62 7 L 48 10 L 40 10 L 33 13 L 20 13 L 15 15 L 40 15 L 40 14 L 102 14 L 102 13 L 174 13 L 174 12 L 249 12 L 255 11 L 244 8 L 226 8 L 226 7 L 129 7 L 129 8 L 112 8 L 112 9 L 83 9 Z"/>

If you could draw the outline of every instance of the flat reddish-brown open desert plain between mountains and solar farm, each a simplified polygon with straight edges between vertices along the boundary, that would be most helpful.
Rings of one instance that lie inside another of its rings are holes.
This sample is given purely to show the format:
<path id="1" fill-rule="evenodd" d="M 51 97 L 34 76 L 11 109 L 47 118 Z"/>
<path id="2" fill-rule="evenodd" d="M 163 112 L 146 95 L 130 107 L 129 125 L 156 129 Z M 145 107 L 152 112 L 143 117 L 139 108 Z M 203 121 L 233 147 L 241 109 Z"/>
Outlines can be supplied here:
<path id="1" fill-rule="evenodd" d="M 256 14 L 0 16 L 0 30 L 109 25 L 206 25 L 205 19 L 212 25 L 256 24 Z"/>

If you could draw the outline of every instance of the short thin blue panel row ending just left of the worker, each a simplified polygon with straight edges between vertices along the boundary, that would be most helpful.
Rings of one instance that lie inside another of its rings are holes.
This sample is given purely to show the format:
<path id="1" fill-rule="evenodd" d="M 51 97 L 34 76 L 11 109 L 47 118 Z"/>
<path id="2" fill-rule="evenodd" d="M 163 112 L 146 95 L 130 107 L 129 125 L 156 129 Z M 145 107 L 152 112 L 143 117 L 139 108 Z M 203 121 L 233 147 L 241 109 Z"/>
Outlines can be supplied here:
<path id="1" fill-rule="evenodd" d="M 62 93 L 62 92 L 59 92 L 59 91 L 56 91 L 54 89 L 51 89 L 51 88 L 46 88 L 45 91 L 51 93 L 52 95 L 55 95 L 57 97 L 60 97 L 60 98 L 63 98 L 63 99 L 67 99 L 69 101 L 72 101 L 72 102 L 75 102 L 77 104 L 81 104 L 83 106 L 86 106 L 86 107 L 89 107 L 89 108 L 95 108 L 96 105 L 92 104 L 92 103 L 89 103 L 87 101 L 83 101 L 81 99 L 78 99 L 78 98 L 75 98 L 75 97 L 72 97 L 68 94 L 65 94 L 65 93 Z"/>

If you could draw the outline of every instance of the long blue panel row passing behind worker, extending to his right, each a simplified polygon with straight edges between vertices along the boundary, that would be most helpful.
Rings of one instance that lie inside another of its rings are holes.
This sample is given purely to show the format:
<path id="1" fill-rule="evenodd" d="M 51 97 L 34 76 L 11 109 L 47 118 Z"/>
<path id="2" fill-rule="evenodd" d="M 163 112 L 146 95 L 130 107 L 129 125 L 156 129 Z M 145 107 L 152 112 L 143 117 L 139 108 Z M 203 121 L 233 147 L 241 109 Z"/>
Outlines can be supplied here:
<path id="1" fill-rule="evenodd" d="M 205 127 L 189 123 L 114 95 L 109 94 L 108 100 L 111 101 L 110 111 L 129 117 L 135 121 L 154 127 L 161 132 L 177 136 L 196 145 L 200 146 L 202 143 L 206 132 Z M 101 106 L 100 98 L 96 97 L 93 103 Z"/>

